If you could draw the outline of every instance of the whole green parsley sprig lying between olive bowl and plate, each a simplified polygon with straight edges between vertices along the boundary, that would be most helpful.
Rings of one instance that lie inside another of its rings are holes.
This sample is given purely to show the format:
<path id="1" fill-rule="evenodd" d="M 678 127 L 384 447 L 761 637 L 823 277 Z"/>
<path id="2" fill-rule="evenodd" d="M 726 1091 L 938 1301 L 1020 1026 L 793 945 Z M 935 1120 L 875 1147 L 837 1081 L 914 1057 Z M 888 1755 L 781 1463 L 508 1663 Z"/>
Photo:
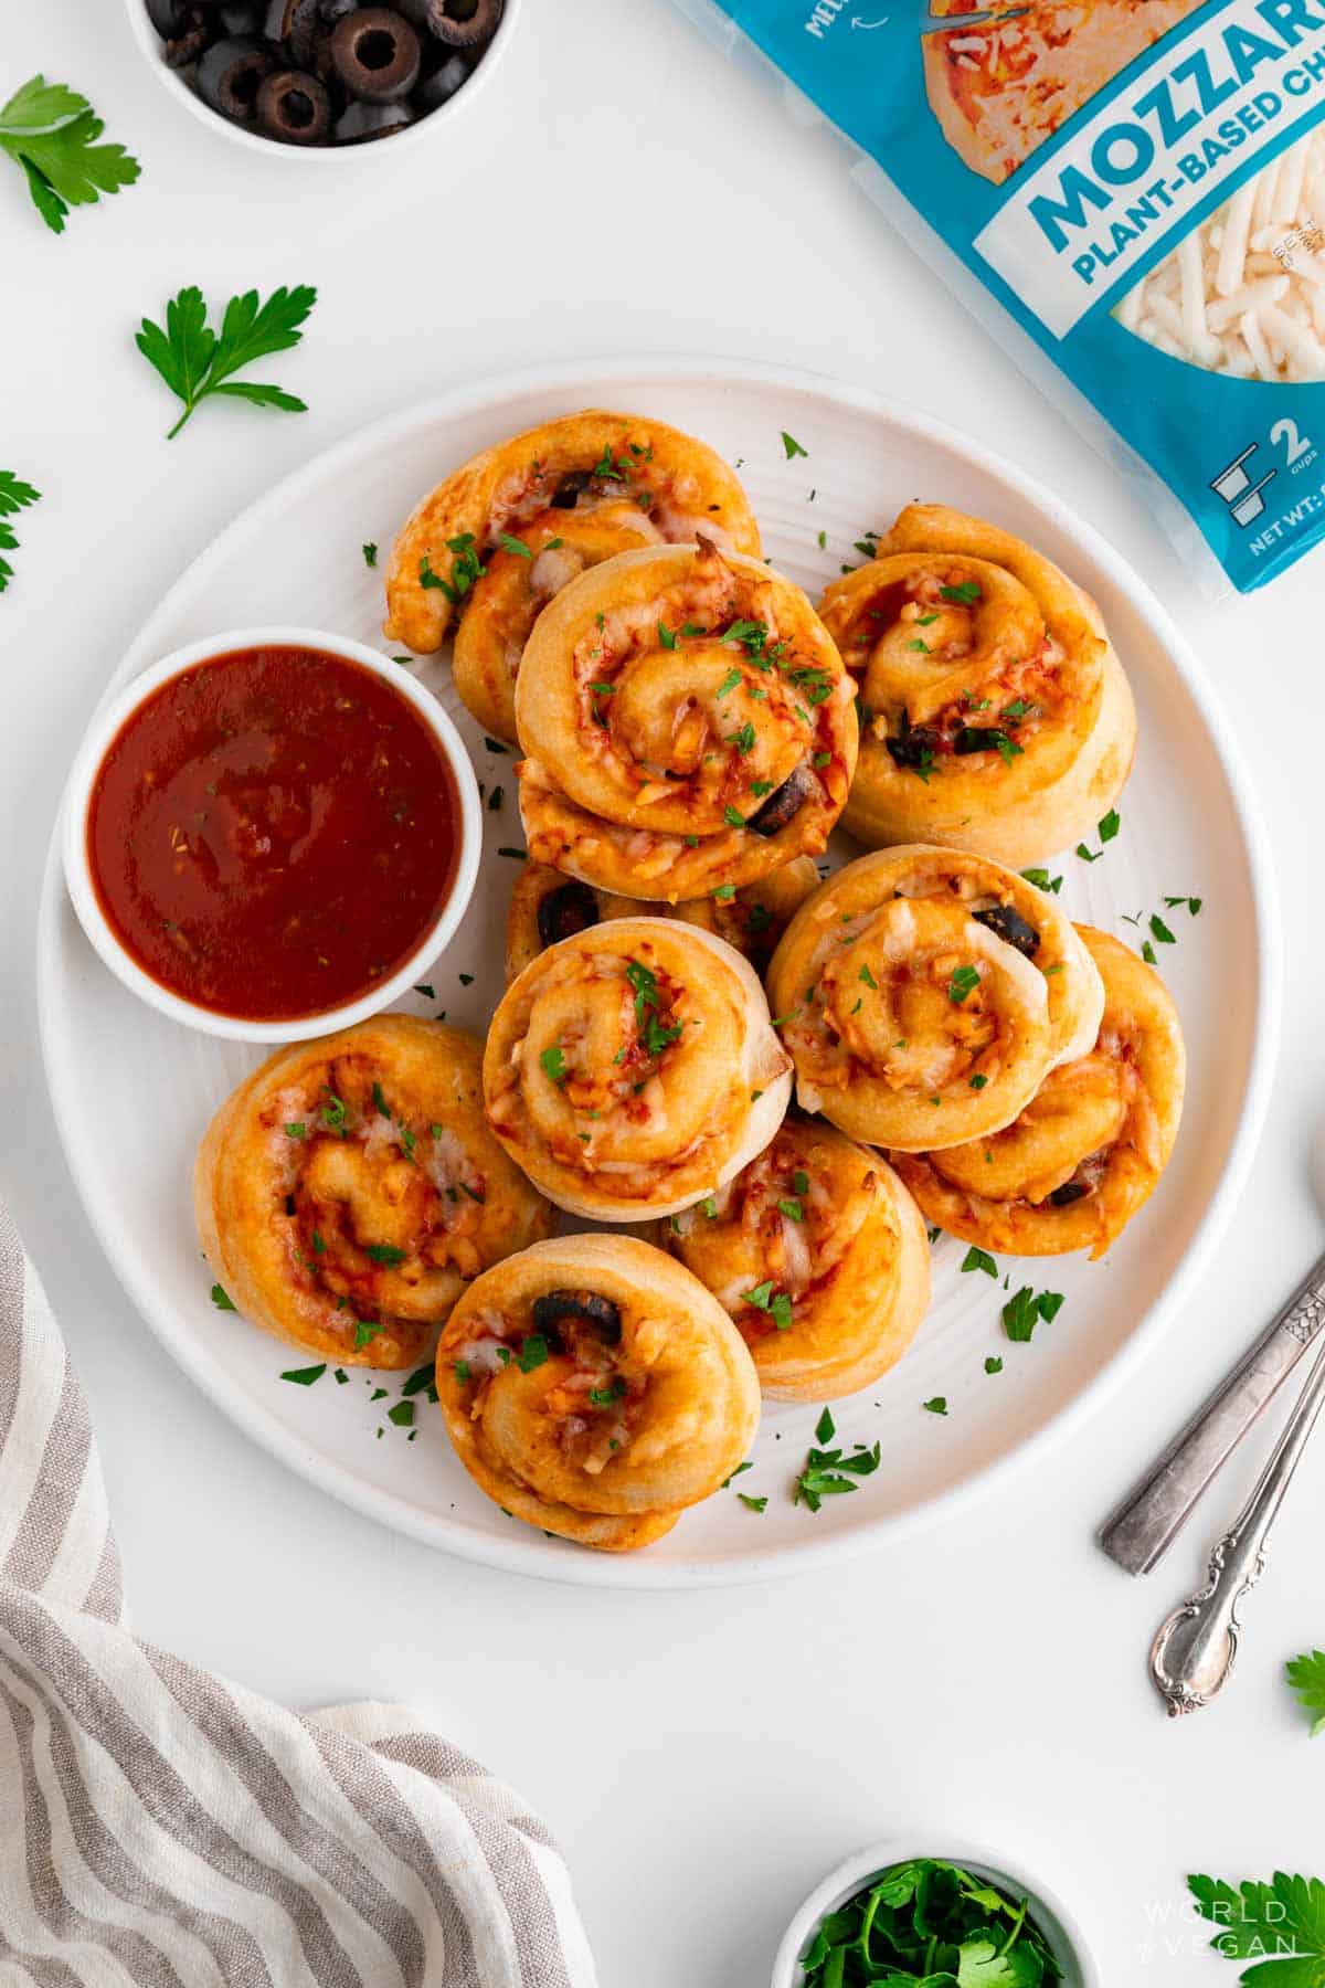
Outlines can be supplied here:
<path id="1" fill-rule="evenodd" d="M 294 290 L 272 290 L 262 304 L 256 290 L 232 296 L 221 320 L 221 332 L 207 322 L 207 302 L 197 286 L 189 286 L 165 306 L 165 330 L 143 318 L 135 344 L 149 366 L 155 366 L 171 394 L 183 404 L 167 441 L 173 441 L 193 410 L 211 394 L 230 394 L 254 408 L 280 408 L 284 414 L 306 414 L 306 402 L 280 386 L 256 380 L 234 380 L 232 374 L 272 352 L 288 352 L 304 336 L 300 326 L 318 302 L 308 284 Z"/>

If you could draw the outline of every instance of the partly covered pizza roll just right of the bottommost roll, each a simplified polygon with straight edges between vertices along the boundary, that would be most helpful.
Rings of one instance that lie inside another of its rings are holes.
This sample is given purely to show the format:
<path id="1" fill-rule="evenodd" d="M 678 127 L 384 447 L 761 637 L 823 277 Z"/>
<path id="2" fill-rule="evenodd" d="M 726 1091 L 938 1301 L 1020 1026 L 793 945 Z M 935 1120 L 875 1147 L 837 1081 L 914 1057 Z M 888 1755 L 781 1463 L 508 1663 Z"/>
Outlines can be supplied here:
<path id="1" fill-rule="evenodd" d="M 892 1167 L 830 1125 L 777 1139 L 660 1242 L 731 1312 L 759 1386 L 789 1402 L 868 1388 L 916 1336 L 930 1242 Z"/>

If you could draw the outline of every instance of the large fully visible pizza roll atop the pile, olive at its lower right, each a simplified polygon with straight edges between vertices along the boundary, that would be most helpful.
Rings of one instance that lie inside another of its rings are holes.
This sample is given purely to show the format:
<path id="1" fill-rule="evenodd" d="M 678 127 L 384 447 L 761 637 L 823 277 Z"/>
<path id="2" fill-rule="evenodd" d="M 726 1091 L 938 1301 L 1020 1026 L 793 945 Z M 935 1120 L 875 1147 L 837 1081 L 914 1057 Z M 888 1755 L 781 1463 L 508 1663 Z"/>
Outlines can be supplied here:
<path id="1" fill-rule="evenodd" d="M 705 539 L 572 580 L 515 716 L 530 857 L 671 905 L 818 855 L 856 765 L 852 686 L 809 600 Z"/>

